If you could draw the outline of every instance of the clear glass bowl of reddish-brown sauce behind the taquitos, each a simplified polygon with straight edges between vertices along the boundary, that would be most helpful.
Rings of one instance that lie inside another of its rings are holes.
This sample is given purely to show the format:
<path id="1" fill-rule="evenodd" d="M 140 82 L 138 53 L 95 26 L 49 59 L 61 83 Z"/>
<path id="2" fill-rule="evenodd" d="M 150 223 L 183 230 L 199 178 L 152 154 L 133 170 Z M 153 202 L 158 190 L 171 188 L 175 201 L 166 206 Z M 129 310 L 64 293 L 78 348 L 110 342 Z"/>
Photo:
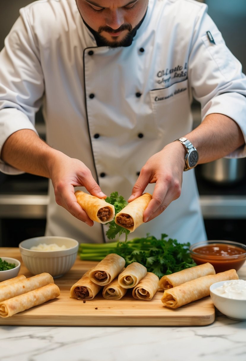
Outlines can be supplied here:
<path id="1" fill-rule="evenodd" d="M 190 256 L 197 265 L 211 263 L 216 273 L 238 271 L 246 260 L 246 245 L 223 240 L 198 242 L 190 246 Z"/>

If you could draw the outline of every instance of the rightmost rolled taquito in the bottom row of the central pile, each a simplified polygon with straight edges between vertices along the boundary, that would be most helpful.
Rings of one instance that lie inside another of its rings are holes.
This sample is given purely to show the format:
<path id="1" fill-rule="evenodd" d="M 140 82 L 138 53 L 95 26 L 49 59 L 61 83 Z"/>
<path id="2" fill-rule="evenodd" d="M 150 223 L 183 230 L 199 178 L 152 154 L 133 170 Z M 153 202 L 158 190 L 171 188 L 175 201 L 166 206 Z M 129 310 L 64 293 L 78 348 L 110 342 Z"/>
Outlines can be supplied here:
<path id="1" fill-rule="evenodd" d="M 158 291 L 159 278 L 152 272 L 146 276 L 132 290 L 132 296 L 139 300 L 150 301 Z"/>

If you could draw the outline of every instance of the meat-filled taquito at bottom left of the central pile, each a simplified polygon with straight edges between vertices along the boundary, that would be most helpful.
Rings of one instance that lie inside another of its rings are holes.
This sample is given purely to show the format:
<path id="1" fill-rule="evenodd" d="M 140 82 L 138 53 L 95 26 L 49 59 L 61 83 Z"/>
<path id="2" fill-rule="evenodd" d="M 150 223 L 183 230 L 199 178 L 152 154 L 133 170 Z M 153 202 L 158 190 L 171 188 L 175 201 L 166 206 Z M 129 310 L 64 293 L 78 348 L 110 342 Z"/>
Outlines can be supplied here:
<path id="1" fill-rule="evenodd" d="M 77 298 L 78 300 L 92 300 L 97 293 L 102 289 L 102 286 L 92 282 L 88 275 L 88 270 L 79 280 L 76 282 L 70 290 L 70 297 Z"/>

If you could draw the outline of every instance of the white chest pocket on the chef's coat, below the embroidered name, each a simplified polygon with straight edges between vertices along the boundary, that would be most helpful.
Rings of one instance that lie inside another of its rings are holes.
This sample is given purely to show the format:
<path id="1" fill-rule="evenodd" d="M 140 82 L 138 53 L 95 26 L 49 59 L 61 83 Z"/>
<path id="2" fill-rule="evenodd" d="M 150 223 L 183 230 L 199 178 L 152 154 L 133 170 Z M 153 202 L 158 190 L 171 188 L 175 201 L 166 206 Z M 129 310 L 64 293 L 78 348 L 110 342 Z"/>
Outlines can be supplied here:
<path id="1" fill-rule="evenodd" d="M 190 114 L 188 79 L 167 88 L 152 90 L 150 98 L 158 130 L 173 133 L 176 127 L 187 127 Z"/>

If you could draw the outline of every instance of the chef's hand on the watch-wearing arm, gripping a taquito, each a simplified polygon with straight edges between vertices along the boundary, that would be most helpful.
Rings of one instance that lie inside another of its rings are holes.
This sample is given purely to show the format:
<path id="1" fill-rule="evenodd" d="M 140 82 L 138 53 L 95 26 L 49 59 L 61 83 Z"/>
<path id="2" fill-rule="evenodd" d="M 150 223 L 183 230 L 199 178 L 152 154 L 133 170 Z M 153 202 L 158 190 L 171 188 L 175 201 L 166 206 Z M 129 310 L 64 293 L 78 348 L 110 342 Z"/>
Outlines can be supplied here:
<path id="1" fill-rule="evenodd" d="M 141 196 L 149 183 L 155 183 L 152 199 L 145 209 L 144 222 L 161 214 L 179 198 L 185 167 L 185 149 L 180 142 L 172 142 L 154 154 L 140 171 L 128 202 Z"/>

